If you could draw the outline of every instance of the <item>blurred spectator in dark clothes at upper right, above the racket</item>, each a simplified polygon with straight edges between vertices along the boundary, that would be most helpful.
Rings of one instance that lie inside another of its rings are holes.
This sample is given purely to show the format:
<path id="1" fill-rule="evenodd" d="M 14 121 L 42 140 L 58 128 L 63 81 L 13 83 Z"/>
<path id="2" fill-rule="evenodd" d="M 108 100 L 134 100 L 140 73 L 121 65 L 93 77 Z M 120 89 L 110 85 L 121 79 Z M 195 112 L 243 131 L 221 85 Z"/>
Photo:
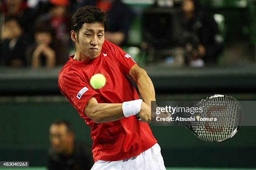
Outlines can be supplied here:
<path id="1" fill-rule="evenodd" d="M 213 16 L 200 7 L 198 0 L 184 0 L 182 10 L 189 64 L 195 67 L 215 64 L 223 48 L 223 38 Z"/>

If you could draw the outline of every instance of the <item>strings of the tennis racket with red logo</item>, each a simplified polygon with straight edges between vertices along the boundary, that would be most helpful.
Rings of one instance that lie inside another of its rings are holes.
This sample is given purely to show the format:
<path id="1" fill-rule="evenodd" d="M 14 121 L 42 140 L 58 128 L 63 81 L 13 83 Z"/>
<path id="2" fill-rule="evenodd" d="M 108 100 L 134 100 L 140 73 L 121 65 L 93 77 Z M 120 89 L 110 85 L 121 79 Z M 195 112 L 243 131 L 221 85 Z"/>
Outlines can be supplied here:
<path id="1" fill-rule="evenodd" d="M 240 123 L 240 115 L 237 114 L 239 105 L 229 97 L 212 97 L 199 102 L 197 107 L 202 107 L 203 112 L 195 113 L 195 117 L 217 119 L 191 122 L 195 133 L 205 140 L 225 140 L 233 134 Z"/>

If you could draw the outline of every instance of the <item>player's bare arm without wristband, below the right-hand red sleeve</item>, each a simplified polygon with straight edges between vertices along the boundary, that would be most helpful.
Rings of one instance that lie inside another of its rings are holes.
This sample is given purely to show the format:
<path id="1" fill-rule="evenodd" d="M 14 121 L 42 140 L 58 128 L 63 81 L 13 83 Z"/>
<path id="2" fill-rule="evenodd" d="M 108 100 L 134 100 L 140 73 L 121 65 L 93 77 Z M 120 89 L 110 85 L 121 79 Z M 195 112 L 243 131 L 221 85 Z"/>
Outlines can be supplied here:
<path id="1" fill-rule="evenodd" d="M 129 72 L 129 77 L 136 82 L 144 102 L 151 106 L 151 101 L 156 101 L 156 95 L 153 82 L 148 77 L 146 70 L 138 65 L 133 65 Z"/>

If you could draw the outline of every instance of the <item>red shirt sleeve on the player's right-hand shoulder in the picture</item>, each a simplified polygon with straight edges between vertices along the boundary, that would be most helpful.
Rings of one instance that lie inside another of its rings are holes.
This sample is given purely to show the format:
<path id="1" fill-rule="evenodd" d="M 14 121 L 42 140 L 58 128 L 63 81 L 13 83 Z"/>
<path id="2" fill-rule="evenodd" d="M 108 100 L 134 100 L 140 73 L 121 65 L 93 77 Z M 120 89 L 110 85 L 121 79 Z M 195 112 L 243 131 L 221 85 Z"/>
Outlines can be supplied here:
<path id="1" fill-rule="evenodd" d="M 114 55 L 115 60 L 118 61 L 118 64 L 120 65 L 121 69 L 125 72 L 126 75 L 129 75 L 131 68 L 133 67 L 133 65 L 136 65 L 137 63 L 129 54 L 124 52 L 117 45 L 111 43 L 111 49 L 112 54 Z"/>

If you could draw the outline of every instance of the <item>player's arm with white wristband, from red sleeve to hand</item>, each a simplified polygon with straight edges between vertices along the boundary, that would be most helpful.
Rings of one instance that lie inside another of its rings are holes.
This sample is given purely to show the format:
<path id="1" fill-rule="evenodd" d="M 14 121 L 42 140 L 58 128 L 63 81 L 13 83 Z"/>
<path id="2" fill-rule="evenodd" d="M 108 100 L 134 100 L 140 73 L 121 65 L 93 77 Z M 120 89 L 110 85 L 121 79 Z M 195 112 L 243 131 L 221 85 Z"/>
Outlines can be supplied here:
<path id="1" fill-rule="evenodd" d="M 84 112 L 95 123 L 112 122 L 136 114 L 141 117 L 141 122 L 149 122 L 151 119 L 150 107 L 141 100 L 98 103 L 99 93 L 72 69 L 60 72 L 59 88 L 77 110 Z"/>

